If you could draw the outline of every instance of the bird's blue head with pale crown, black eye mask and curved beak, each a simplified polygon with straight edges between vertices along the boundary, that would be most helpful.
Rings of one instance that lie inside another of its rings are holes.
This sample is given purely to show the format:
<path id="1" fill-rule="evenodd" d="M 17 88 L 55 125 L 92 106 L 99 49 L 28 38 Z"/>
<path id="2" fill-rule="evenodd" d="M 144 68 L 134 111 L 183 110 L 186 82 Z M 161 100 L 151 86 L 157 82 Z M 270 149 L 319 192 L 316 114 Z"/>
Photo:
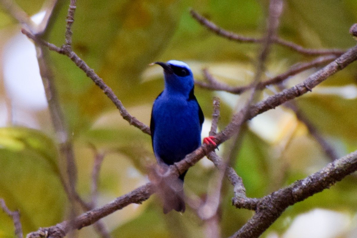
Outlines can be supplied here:
<path id="1" fill-rule="evenodd" d="M 170 60 L 166 63 L 155 62 L 164 69 L 165 90 L 169 92 L 182 93 L 188 95 L 193 88 L 193 75 L 190 67 L 177 60 Z"/>

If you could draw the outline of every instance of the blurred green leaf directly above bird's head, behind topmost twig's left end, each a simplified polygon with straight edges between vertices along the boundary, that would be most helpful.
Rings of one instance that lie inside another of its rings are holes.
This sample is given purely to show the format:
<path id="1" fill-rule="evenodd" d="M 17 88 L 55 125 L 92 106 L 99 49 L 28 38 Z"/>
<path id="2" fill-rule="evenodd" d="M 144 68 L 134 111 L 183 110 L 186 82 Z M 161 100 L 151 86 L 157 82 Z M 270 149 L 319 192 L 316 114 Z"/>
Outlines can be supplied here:
<path id="1" fill-rule="evenodd" d="M 252 29 L 256 29 L 263 20 L 261 6 L 257 1 L 222 2 L 215 0 L 209 3 L 189 1 L 186 7 L 175 35 L 161 56 L 162 59 L 201 62 L 241 60 L 244 62 L 251 60 L 251 56 L 255 55 L 257 45 L 237 44 L 237 42 L 216 36 L 194 20 L 188 10 L 192 7 L 193 10 L 228 31 L 255 36 L 256 31 Z"/>

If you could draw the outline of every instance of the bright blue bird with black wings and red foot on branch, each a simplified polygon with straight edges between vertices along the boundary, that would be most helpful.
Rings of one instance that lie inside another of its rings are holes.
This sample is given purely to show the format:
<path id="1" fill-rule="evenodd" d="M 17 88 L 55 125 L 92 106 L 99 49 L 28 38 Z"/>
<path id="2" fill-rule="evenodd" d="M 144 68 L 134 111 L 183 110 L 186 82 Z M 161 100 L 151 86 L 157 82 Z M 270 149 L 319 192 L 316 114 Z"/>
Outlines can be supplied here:
<path id="1" fill-rule="evenodd" d="M 201 145 L 201 131 L 204 119 L 202 109 L 194 95 L 194 79 L 190 67 L 177 60 L 154 62 L 164 69 L 164 90 L 155 99 L 150 120 L 152 148 L 159 166 L 169 166 L 181 161 Z M 211 143 L 213 136 L 204 143 Z M 164 213 L 174 209 L 185 212 L 182 173 L 176 182 L 166 184 L 161 194 Z M 170 183 L 171 183 L 170 182 Z M 162 187 L 162 185 L 161 185 Z"/>

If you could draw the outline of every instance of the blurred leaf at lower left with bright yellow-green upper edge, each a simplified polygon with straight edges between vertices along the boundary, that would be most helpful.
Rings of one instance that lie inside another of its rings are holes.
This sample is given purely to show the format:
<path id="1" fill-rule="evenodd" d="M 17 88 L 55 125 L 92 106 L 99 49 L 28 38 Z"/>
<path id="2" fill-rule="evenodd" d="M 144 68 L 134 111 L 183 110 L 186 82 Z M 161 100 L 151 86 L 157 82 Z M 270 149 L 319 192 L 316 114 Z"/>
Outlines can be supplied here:
<path id="1" fill-rule="evenodd" d="M 66 197 L 50 138 L 28 128 L 0 128 L 0 146 L 0 197 L 20 211 L 24 233 L 61 221 Z M 4 219 L 2 232 L 11 236 L 11 220 Z"/>

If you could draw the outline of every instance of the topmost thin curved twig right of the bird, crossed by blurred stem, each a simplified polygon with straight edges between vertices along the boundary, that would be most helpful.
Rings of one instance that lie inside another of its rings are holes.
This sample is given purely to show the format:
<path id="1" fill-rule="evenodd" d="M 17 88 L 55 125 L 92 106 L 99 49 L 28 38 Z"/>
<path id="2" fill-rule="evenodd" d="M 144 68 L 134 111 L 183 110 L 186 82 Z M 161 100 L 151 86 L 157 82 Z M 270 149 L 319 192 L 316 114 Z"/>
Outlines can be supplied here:
<path id="1" fill-rule="evenodd" d="M 215 32 L 217 35 L 225 37 L 229 40 L 234 40 L 237 42 L 245 42 L 245 43 L 261 43 L 264 39 L 256 39 L 253 37 L 246 37 L 242 35 L 235 34 L 231 31 L 224 30 L 223 28 L 217 26 L 212 21 L 206 19 L 204 16 L 198 14 L 194 10 L 190 10 L 191 16 L 197 20 L 201 25 L 205 26 L 208 30 Z M 340 49 L 306 49 L 300 45 L 294 44 L 290 41 L 282 40 L 277 36 L 273 37 L 273 42 L 279 44 L 281 46 L 285 46 L 290 48 L 291 50 L 295 50 L 303 55 L 342 55 L 345 51 Z"/>

